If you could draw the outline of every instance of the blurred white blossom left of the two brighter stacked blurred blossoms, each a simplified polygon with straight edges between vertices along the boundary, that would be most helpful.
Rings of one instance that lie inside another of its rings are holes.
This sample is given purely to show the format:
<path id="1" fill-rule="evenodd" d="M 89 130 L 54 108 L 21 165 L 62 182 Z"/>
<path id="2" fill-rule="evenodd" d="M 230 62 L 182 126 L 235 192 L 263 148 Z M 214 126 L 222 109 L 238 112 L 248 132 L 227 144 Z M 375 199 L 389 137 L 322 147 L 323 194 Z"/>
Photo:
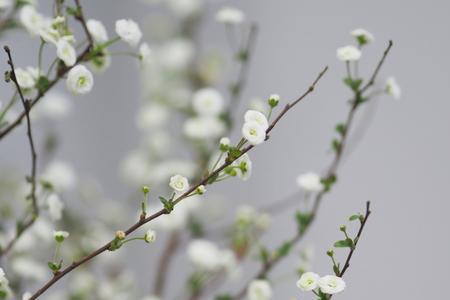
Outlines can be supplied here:
<path id="1" fill-rule="evenodd" d="M 139 109 L 136 125 L 141 130 L 160 127 L 169 119 L 169 113 L 167 107 L 161 104 L 145 104 Z"/>

